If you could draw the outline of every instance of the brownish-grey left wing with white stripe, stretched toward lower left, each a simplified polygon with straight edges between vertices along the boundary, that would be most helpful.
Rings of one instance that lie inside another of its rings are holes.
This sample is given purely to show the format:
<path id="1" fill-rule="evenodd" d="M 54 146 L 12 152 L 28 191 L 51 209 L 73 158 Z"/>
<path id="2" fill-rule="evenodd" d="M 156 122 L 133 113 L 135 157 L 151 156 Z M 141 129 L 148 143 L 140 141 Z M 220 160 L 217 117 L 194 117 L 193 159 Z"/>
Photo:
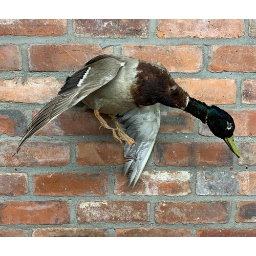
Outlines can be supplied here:
<path id="1" fill-rule="evenodd" d="M 111 55 L 110 55 L 111 56 Z M 96 61 L 89 61 L 80 70 L 68 77 L 58 95 L 47 103 L 27 127 L 25 135 L 20 140 L 16 153 L 20 147 L 37 131 L 57 117 L 62 112 L 71 108 L 79 101 L 111 81 L 119 69 L 125 65 L 124 61 L 117 60 L 108 55 L 102 55 Z"/>

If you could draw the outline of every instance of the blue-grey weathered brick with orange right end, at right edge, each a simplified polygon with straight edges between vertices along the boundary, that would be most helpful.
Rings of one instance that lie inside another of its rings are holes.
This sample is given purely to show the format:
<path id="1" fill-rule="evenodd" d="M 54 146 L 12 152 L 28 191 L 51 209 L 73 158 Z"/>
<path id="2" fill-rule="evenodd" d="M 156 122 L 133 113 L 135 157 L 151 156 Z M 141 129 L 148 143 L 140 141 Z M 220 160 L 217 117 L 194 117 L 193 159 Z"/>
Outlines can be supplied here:
<path id="1" fill-rule="evenodd" d="M 196 193 L 201 196 L 254 196 L 256 172 L 198 172 Z"/>

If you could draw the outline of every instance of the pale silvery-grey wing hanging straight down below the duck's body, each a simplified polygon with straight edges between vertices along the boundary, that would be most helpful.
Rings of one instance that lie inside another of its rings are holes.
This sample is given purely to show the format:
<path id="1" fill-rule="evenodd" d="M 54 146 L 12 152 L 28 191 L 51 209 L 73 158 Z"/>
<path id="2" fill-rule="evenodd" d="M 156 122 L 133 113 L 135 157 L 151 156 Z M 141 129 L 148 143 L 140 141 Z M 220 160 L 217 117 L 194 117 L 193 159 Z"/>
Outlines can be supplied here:
<path id="1" fill-rule="evenodd" d="M 150 157 L 157 137 L 160 126 L 159 103 L 119 113 L 117 120 L 125 133 L 136 142 L 132 147 L 127 143 L 124 146 L 126 162 L 123 175 L 130 172 L 128 185 L 133 182 L 134 187 Z"/>

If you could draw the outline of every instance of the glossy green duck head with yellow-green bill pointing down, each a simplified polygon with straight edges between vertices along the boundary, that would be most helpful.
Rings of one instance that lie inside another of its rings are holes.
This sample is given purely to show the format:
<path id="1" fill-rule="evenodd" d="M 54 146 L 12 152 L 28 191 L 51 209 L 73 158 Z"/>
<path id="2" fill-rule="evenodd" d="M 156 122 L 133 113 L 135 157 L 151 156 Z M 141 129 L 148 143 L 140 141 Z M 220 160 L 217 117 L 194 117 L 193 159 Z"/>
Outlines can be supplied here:
<path id="1" fill-rule="evenodd" d="M 223 139 L 230 150 L 240 157 L 238 149 L 234 144 L 234 120 L 224 110 L 218 108 L 218 106 L 212 105 L 209 109 L 206 123 L 209 126 L 210 131 L 217 137 Z"/>

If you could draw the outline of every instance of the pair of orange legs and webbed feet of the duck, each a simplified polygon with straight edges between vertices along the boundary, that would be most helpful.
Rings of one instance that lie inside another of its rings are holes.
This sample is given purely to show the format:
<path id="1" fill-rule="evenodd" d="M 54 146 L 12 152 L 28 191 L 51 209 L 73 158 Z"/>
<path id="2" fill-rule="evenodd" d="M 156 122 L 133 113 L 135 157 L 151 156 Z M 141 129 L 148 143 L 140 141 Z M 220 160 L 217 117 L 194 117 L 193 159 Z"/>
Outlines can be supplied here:
<path id="1" fill-rule="evenodd" d="M 135 140 L 130 138 L 129 136 L 127 136 L 124 131 L 122 130 L 120 124 L 117 122 L 115 115 L 111 115 L 111 118 L 113 120 L 113 122 L 116 125 L 116 128 L 110 127 L 108 125 L 108 123 L 106 123 L 106 121 L 100 116 L 99 111 L 98 110 L 94 110 L 94 115 L 96 116 L 96 118 L 99 120 L 101 126 L 99 127 L 99 129 L 101 127 L 105 128 L 105 129 L 109 129 L 112 130 L 113 132 L 113 137 L 115 139 L 115 141 L 122 143 L 122 140 L 126 141 L 130 146 L 132 146 L 133 144 L 135 144 Z M 119 136 L 117 136 L 116 131 L 118 131 Z"/>

